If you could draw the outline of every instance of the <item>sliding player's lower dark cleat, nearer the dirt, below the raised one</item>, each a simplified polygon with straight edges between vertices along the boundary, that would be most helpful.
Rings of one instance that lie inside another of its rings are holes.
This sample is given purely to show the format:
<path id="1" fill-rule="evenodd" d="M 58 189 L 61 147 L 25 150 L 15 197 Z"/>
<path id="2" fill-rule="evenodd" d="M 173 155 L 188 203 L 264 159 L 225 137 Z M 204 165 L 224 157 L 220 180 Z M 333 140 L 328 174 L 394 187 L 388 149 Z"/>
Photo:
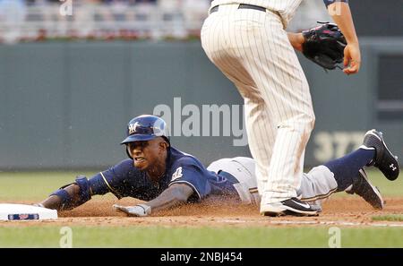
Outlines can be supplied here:
<path id="1" fill-rule="evenodd" d="M 368 202 L 374 209 L 382 210 L 384 201 L 379 189 L 370 183 L 364 169 L 360 169 L 358 175 L 354 178 L 353 184 L 350 189 L 346 190 L 347 193 L 356 193 Z"/>

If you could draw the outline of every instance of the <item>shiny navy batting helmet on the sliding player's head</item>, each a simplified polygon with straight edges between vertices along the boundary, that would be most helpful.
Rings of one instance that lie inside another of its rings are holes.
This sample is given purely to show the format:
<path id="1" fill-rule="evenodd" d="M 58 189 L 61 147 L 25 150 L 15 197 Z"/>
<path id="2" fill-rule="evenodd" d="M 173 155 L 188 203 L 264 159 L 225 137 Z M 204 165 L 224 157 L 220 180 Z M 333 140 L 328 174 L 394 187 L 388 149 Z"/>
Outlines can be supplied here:
<path id="1" fill-rule="evenodd" d="M 169 143 L 167 123 L 159 116 L 142 115 L 134 117 L 127 124 L 127 137 L 121 144 L 129 142 L 150 141 L 163 137 Z"/>

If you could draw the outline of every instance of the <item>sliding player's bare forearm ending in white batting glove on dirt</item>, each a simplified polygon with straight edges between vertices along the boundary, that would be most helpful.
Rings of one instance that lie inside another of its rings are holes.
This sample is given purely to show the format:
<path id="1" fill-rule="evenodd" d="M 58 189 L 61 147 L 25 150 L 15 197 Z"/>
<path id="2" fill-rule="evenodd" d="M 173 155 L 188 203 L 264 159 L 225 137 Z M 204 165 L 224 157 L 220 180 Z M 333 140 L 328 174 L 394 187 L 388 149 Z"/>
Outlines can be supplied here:
<path id="1" fill-rule="evenodd" d="M 114 208 L 129 216 L 148 216 L 151 214 L 151 211 L 167 210 L 184 204 L 192 194 L 193 188 L 189 185 L 172 184 L 164 192 L 160 193 L 157 198 L 150 202 L 137 204 L 135 206 L 114 205 Z"/>

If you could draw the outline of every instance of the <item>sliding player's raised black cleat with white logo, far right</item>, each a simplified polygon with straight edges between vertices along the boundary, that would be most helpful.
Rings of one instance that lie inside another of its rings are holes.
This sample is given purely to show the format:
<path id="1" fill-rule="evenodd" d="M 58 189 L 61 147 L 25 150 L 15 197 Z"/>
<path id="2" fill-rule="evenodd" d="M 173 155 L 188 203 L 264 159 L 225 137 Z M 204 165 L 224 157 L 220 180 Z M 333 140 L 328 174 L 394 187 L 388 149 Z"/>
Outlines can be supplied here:
<path id="1" fill-rule="evenodd" d="M 394 156 L 385 141 L 381 132 L 372 129 L 365 133 L 364 146 L 375 149 L 375 158 L 369 166 L 378 167 L 382 174 L 389 180 L 395 180 L 399 176 L 398 157 Z"/>

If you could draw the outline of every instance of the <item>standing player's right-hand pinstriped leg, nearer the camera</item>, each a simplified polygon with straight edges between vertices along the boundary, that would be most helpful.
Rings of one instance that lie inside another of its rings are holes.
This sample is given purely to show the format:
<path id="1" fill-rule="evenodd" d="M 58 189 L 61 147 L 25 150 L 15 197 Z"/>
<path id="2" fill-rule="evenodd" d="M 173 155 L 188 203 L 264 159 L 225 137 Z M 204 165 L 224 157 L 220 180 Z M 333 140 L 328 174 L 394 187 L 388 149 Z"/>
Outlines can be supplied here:
<path id="1" fill-rule="evenodd" d="M 262 175 L 267 180 L 262 191 L 264 212 L 265 205 L 296 197 L 314 114 L 308 83 L 279 17 L 265 14 L 262 30 L 253 31 L 253 37 L 247 39 L 252 40 L 244 47 L 246 51 L 250 49 L 245 52 L 249 55 L 248 73 L 264 99 L 261 107 L 269 114 L 269 119 L 256 117 L 251 120 L 255 125 L 253 128 L 261 131 L 253 132 L 249 143 L 251 149 L 255 147 L 261 151 L 253 155 L 258 166 L 263 154 L 271 153 L 270 165 L 265 165 L 263 174 L 257 167 L 257 176 Z M 266 128 L 275 128 L 275 133 L 262 130 Z M 272 136 L 275 136 L 274 143 L 270 140 Z M 267 140 L 273 143 L 272 147 L 266 145 Z"/>

